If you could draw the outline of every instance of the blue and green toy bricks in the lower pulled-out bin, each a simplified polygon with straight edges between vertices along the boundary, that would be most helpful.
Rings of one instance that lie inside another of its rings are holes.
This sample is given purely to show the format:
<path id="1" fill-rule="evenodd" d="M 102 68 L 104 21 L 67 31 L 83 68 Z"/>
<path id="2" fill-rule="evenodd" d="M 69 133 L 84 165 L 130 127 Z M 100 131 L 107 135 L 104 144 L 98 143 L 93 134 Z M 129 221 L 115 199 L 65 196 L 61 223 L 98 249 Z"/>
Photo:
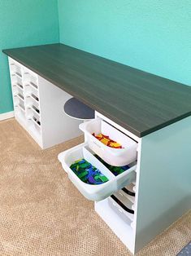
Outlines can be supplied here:
<path id="1" fill-rule="evenodd" d="M 84 158 L 75 161 L 70 168 L 84 183 L 99 185 L 109 180 L 100 170 L 92 166 L 89 161 L 86 161 Z"/>

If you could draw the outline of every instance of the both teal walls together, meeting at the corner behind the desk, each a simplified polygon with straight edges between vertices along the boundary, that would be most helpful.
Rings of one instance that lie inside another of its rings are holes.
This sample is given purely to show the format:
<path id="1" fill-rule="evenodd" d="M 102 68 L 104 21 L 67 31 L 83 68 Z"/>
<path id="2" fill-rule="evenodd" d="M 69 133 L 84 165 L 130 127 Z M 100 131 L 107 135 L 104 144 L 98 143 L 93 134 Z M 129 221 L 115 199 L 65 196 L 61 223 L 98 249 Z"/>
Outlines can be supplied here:
<path id="1" fill-rule="evenodd" d="M 59 4 L 59 16 L 58 16 Z M 190 0 L 0 0 L 0 51 L 63 42 L 191 85 Z M 0 52 L 0 113 L 12 110 Z"/>

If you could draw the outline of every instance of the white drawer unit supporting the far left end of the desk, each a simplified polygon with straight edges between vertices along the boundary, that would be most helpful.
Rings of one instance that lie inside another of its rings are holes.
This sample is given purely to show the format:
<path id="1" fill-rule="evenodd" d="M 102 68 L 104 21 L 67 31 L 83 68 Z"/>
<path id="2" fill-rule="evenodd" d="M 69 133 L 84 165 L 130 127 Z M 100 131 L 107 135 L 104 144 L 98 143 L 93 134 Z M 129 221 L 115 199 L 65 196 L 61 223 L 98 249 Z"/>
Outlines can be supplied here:
<path id="1" fill-rule="evenodd" d="M 81 121 L 63 111 L 72 96 L 9 57 L 15 119 L 41 148 L 81 135 Z"/>

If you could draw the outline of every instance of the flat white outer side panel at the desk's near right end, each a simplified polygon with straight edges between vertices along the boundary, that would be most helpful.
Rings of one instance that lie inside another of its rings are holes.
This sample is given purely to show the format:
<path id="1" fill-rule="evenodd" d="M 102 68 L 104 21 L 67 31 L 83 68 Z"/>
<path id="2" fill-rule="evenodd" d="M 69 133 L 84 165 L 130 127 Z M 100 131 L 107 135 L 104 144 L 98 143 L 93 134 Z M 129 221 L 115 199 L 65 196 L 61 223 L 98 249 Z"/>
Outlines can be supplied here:
<path id="1" fill-rule="evenodd" d="M 191 208 L 191 117 L 141 141 L 135 253 Z"/>

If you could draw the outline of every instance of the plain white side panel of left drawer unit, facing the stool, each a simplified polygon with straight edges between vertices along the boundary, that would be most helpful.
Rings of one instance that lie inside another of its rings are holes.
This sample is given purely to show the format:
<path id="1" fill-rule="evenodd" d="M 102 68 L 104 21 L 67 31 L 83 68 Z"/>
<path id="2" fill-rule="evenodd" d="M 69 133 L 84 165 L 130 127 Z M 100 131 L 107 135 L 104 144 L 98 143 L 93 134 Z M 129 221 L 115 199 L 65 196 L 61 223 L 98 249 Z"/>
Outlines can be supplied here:
<path id="1" fill-rule="evenodd" d="M 38 82 L 43 148 L 49 148 L 54 144 L 82 135 L 79 130 L 82 121 L 68 117 L 63 111 L 63 105 L 72 96 L 43 77 L 39 76 Z"/>

